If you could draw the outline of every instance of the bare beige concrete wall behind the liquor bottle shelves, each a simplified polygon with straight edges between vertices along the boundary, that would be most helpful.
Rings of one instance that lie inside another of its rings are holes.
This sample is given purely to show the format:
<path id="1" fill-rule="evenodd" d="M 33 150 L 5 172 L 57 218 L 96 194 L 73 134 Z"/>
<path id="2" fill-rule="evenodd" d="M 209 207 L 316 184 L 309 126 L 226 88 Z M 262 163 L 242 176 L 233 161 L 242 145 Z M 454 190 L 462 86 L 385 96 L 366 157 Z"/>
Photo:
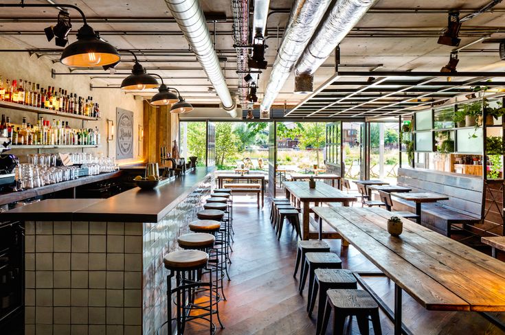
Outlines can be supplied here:
<path id="1" fill-rule="evenodd" d="M 41 36 L 45 38 L 45 36 Z M 0 37 L 0 48 L 1 49 L 24 49 L 23 46 L 12 43 L 5 38 Z M 91 84 L 91 79 L 89 76 L 56 76 L 56 78 L 51 77 L 51 69 L 55 69 L 57 72 L 69 72 L 69 69 L 59 62 L 55 64 L 52 60 L 48 58 L 36 58 L 36 56 L 30 57 L 27 52 L 23 53 L 8 53 L 4 52 L 0 55 L 0 76 L 3 77 L 3 82 L 5 85 L 5 80 L 10 79 L 23 79 L 31 82 L 36 82 L 41 84 L 45 89 L 47 86 L 55 86 L 56 89 L 62 88 L 67 89 L 67 91 L 77 93 L 82 97 L 87 97 L 89 95 L 93 96 L 93 102 L 98 102 L 100 104 L 101 119 L 98 121 L 85 121 L 84 127 L 95 128 L 98 126 L 101 135 L 101 143 L 99 148 L 85 148 L 85 149 L 60 149 L 62 152 L 93 152 L 95 154 L 103 154 L 104 156 L 115 157 L 115 141 L 107 142 L 107 123 L 106 119 L 112 119 L 115 122 L 115 110 L 116 107 L 124 108 L 128 111 L 133 111 L 134 115 L 134 125 L 133 125 L 133 159 L 123 159 L 117 161 L 117 163 L 128 163 L 133 161 L 143 160 L 143 150 L 139 148 L 139 144 L 142 147 L 142 142 L 139 142 L 139 125 L 144 124 L 144 106 L 142 100 L 135 100 L 133 95 L 125 94 L 120 89 L 93 89 L 90 91 L 89 87 Z M 83 70 L 84 71 L 84 70 Z M 104 86 L 104 83 L 100 80 L 93 79 L 94 86 Z M 22 117 L 27 118 L 27 122 L 31 124 L 36 124 L 37 114 L 23 111 L 14 111 L 5 108 L 0 108 L 0 113 L 10 116 L 11 122 L 14 124 L 21 124 Z M 42 115 L 45 117 L 45 115 Z M 82 120 L 70 119 L 65 117 L 56 117 L 56 115 L 47 115 L 45 119 L 62 119 L 69 122 L 71 128 L 84 128 L 82 126 Z M 12 150 L 13 154 L 16 154 L 21 161 L 25 161 L 26 154 L 36 153 L 37 150 Z M 56 149 L 43 149 L 40 152 L 58 152 Z"/>

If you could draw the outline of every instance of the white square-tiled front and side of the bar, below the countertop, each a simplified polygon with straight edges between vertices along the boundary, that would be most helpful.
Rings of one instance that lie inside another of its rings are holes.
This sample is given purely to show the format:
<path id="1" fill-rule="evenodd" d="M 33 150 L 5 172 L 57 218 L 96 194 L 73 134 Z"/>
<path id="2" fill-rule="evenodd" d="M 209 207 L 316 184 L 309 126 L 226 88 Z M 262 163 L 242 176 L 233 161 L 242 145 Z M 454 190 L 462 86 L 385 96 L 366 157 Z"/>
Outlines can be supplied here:
<path id="1" fill-rule="evenodd" d="M 158 222 L 26 221 L 25 334 L 157 334 L 167 320 L 163 257 L 189 232 L 212 178 Z"/>

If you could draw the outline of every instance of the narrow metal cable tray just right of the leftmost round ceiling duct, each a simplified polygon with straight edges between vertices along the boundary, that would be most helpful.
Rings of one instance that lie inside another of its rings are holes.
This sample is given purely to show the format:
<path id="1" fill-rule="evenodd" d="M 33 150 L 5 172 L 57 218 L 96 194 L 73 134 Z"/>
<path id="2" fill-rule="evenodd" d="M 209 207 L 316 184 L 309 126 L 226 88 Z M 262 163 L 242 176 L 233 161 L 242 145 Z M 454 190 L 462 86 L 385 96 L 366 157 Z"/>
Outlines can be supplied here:
<path id="1" fill-rule="evenodd" d="M 247 38 L 249 35 L 249 0 L 233 0 L 233 38 L 237 53 L 237 71 L 238 71 L 238 102 L 245 104 L 247 102 Z"/>

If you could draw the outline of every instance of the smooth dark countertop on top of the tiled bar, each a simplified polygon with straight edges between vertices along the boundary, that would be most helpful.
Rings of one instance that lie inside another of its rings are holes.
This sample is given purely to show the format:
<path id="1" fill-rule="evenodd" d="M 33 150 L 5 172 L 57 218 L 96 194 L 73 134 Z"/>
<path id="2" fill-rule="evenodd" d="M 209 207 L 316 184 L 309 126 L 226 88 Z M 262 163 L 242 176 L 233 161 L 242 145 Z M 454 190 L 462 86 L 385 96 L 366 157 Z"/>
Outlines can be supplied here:
<path id="1" fill-rule="evenodd" d="M 0 214 L 6 221 L 158 222 L 194 191 L 215 167 L 197 167 L 153 190 L 135 187 L 106 199 L 48 199 Z"/>

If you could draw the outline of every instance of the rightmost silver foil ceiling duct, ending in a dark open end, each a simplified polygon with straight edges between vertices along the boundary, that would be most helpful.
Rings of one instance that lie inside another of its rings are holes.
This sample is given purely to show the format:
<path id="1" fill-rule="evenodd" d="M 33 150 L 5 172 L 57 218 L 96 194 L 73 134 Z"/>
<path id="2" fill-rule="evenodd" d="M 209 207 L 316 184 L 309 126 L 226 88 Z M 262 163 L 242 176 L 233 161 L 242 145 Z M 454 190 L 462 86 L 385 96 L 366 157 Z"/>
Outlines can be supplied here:
<path id="1" fill-rule="evenodd" d="M 295 68 L 295 93 L 313 91 L 313 75 L 377 0 L 337 0 Z M 297 91 L 298 89 L 298 91 Z"/>

